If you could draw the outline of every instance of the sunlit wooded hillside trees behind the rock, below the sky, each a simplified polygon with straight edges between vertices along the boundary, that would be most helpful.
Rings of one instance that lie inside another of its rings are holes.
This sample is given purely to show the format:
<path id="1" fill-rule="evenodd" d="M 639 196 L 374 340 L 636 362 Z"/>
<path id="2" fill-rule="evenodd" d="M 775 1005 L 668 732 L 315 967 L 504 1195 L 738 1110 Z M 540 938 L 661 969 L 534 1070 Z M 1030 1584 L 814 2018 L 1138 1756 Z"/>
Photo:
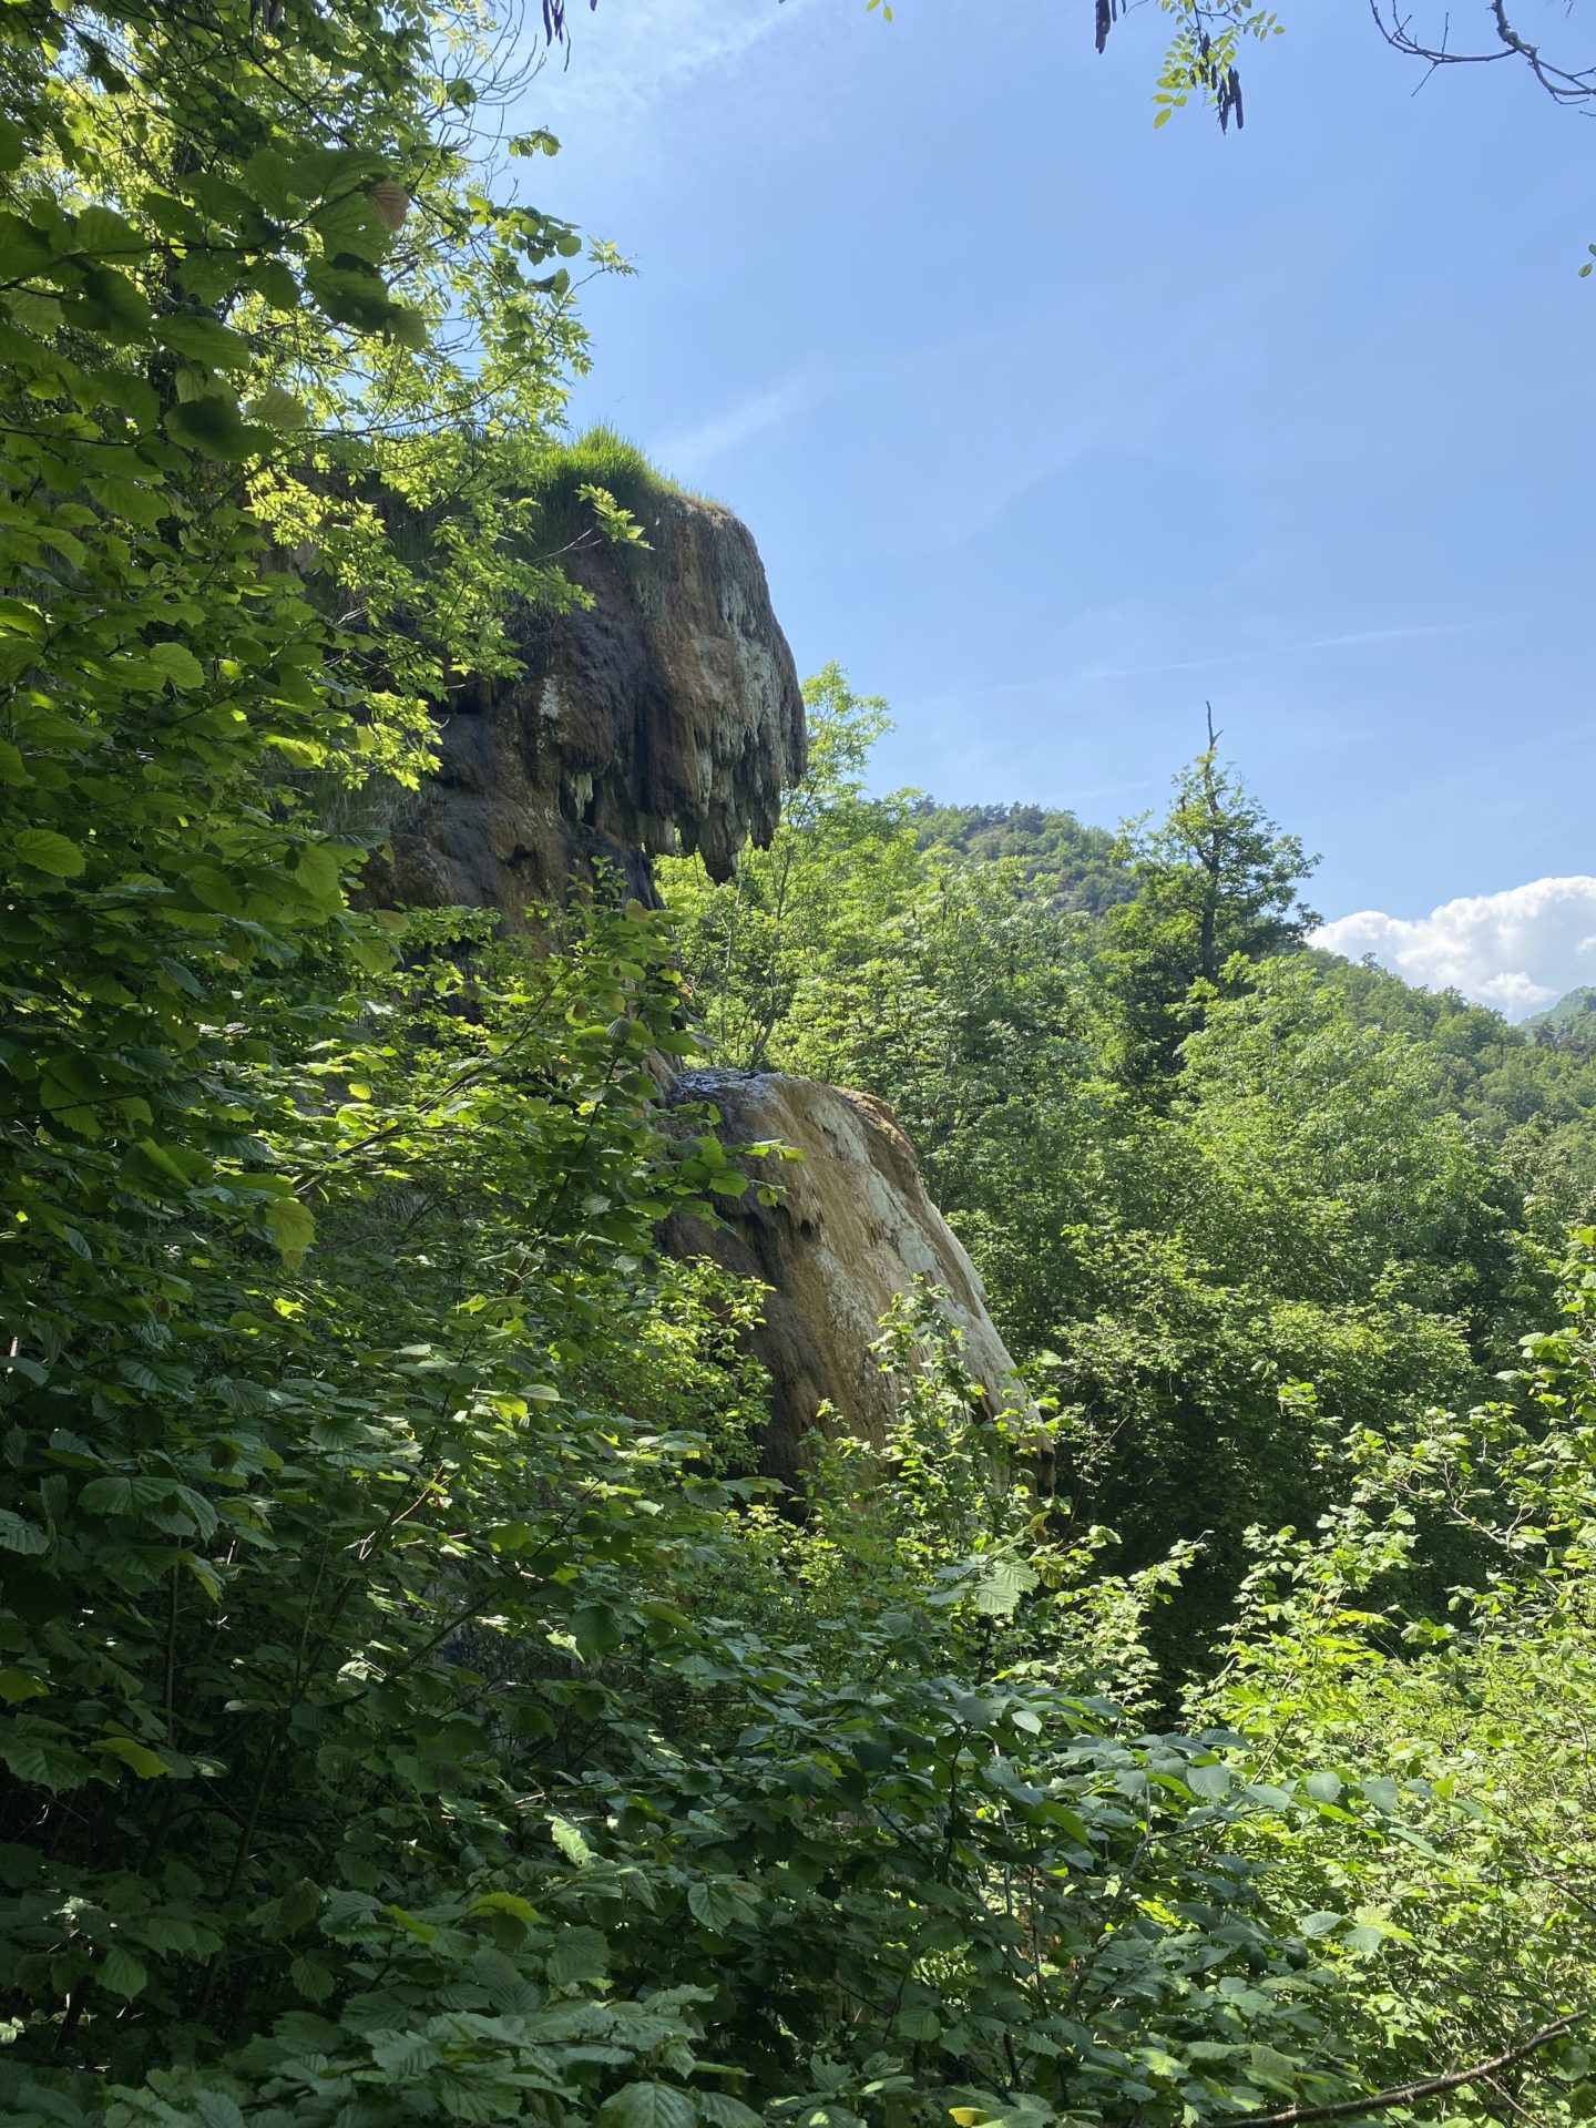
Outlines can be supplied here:
<path id="1" fill-rule="evenodd" d="M 1079 1524 L 1128 1568 L 1202 1541 L 1160 1626 L 1202 1660 L 1251 1524 L 1311 1526 L 1347 1483 L 1334 1422 L 1485 1394 L 1549 1307 L 1596 1207 L 1596 1073 L 1307 949 L 1309 860 L 1213 753 L 1094 896 L 1102 841 L 1068 815 L 983 832 L 868 796 L 883 715 L 834 668 L 813 683 L 772 849 L 724 887 L 666 868 L 683 966 L 726 1062 L 894 1104 L 1060 1404 Z M 1426 1556 L 1464 1564 L 1441 1528 Z"/>

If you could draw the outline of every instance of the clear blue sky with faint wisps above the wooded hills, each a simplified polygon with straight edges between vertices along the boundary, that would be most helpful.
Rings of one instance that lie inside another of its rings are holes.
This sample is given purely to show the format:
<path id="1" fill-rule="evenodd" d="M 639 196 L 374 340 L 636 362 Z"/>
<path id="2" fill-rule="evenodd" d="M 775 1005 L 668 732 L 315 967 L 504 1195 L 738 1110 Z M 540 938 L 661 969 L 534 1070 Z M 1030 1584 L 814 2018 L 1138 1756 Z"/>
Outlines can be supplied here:
<path id="1" fill-rule="evenodd" d="M 575 417 L 751 523 L 883 783 L 1115 821 L 1211 698 L 1328 917 L 1483 909 L 1341 943 L 1526 1011 L 1596 981 L 1596 134 L 1281 9 L 1238 138 L 1151 130 L 1153 9 L 572 9 L 517 121 L 638 266 Z"/>

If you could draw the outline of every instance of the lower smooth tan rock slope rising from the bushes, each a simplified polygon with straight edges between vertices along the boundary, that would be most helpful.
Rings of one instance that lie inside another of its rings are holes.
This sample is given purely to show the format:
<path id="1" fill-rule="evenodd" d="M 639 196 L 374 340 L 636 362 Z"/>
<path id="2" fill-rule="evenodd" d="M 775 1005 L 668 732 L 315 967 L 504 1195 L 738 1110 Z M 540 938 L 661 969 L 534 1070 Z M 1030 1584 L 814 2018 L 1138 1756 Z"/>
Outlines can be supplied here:
<path id="1" fill-rule="evenodd" d="M 915 1149 L 892 1109 L 779 1073 L 685 1073 L 672 1094 L 711 1102 L 719 1136 L 781 1138 L 800 1162 L 745 1160 L 779 1190 L 762 1204 L 749 1190 L 728 1198 L 726 1226 L 677 1215 L 666 1243 L 677 1256 L 711 1256 L 770 1287 L 753 1351 L 770 1373 L 766 1473 L 792 1477 L 821 1402 L 849 1432 L 879 1441 L 894 1413 L 894 1383 L 870 1345 L 894 1296 L 915 1279 L 945 1292 L 945 1315 L 962 1332 L 962 1360 L 994 1411 L 1026 1402 L 1015 1364 L 987 1315 L 975 1264 L 926 1196 Z"/>

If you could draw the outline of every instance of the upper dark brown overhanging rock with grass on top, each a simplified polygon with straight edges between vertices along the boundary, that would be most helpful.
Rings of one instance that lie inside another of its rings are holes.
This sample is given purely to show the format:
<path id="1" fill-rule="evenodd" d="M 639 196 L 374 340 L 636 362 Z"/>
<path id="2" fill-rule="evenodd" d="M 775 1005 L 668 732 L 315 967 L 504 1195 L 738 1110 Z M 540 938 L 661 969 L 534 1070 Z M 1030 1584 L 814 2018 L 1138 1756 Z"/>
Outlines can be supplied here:
<path id="1" fill-rule="evenodd" d="M 768 843 L 804 772 L 804 706 L 760 553 L 730 511 L 662 492 L 647 551 L 562 558 L 592 604 L 528 613 L 526 672 L 462 687 L 436 775 L 392 826 L 375 900 L 500 909 L 560 900 L 609 858 L 645 900 L 649 858 L 702 855 L 726 879 Z"/>

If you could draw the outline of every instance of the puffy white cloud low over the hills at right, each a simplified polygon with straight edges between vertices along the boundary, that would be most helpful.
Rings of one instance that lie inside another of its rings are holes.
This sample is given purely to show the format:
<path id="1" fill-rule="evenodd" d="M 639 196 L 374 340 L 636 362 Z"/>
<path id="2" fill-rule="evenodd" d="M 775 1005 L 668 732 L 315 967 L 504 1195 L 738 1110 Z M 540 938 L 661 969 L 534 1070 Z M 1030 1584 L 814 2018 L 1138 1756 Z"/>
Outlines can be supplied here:
<path id="1" fill-rule="evenodd" d="M 1596 983 L 1596 879 L 1530 879 L 1502 894 L 1464 894 L 1428 917 L 1360 909 L 1313 934 L 1315 945 L 1385 968 L 1426 990 L 1460 990 L 1522 1019 L 1579 983 Z"/>

